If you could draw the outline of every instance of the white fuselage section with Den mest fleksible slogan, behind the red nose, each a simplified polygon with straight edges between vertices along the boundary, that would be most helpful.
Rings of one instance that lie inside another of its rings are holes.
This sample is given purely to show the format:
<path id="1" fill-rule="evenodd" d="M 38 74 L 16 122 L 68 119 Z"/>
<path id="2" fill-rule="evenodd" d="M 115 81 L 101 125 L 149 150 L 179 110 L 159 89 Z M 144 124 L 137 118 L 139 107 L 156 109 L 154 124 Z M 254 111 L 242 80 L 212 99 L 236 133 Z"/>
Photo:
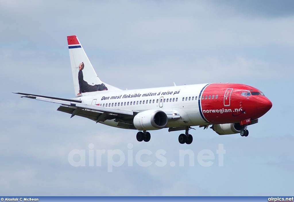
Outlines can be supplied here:
<path id="1" fill-rule="evenodd" d="M 208 123 L 201 117 L 198 105 L 199 94 L 206 85 L 196 84 L 111 92 L 87 92 L 75 99 L 82 100 L 84 104 L 114 109 L 138 112 L 161 110 L 167 114 L 181 115 L 179 119 L 169 119 L 166 127 L 206 125 Z M 114 120 L 106 120 L 101 123 L 119 127 Z"/>

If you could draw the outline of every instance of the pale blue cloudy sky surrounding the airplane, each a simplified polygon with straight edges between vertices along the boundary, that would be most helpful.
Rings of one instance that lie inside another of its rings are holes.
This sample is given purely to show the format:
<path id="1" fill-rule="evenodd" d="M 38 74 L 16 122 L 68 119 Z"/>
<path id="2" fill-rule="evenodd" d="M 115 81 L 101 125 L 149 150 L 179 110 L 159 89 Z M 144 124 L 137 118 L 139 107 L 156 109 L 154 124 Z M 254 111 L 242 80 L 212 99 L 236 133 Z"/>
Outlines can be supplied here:
<path id="1" fill-rule="evenodd" d="M 3 0 L 0 19 L 0 195 L 293 196 L 293 1 Z M 75 97 L 69 35 L 115 87 L 243 83 L 273 107 L 248 137 L 194 127 L 182 145 L 11 93 Z"/>

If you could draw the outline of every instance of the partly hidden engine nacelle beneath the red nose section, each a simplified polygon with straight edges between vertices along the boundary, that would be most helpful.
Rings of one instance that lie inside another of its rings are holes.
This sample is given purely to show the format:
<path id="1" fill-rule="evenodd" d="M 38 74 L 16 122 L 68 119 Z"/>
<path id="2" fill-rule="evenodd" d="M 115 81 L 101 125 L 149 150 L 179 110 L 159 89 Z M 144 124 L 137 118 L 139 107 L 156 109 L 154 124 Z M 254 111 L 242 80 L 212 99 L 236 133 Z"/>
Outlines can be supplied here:
<path id="1" fill-rule="evenodd" d="M 215 124 L 211 127 L 211 129 L 213 129 L 219 135 L 240 133 L 242 129 L 246 128 L 247 126 L 243 127 L 239 123 Z"/>

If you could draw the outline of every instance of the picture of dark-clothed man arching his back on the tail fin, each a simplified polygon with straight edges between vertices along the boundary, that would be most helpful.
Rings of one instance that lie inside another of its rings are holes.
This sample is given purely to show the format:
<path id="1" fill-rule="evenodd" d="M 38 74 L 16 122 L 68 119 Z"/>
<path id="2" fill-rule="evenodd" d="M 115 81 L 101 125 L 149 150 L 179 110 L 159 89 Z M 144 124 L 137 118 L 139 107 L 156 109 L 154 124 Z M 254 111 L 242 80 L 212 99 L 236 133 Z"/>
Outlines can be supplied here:
<path id="1" fill-rule="evenodd" d="M 101 91 L 101 90 L 108 90 L 104 83 L 96 84 L 96 85 L 89 85 L 86 81 L 84 81 L 83 76 L 83 69 L 85 65 L 84 63 L 80 63 L 78 66 L 78 84 L 80 85 L 80 91 L 77 95 L 81 95 L 83 92 L 94 92 L 94 91 Z"/>

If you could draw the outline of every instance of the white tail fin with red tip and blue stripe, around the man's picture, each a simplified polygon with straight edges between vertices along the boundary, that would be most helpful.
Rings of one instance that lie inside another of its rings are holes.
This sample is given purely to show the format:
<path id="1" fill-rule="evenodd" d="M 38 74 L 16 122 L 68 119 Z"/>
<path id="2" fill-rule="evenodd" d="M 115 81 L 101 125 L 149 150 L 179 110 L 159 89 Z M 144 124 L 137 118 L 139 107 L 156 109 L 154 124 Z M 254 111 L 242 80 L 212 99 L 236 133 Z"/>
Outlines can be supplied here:
<path id="1" fill-rule="evenodd" d="M 98 78 L 90 60 L 88 59 L 81 43 L 78 41 L 76 36 L 68 36 L 67 42 L 69 44 L 69 57 L 71 60 L 71 71 L 74 80 L 74 90 L 76 97 L 87 95 L 89 92 L 100 90 L 117 91 L 121 90 L 114 86 L 101 85 L 103 82 Z M 79 72 L 79 65 L 83 63 L 82 72 Z"/>

